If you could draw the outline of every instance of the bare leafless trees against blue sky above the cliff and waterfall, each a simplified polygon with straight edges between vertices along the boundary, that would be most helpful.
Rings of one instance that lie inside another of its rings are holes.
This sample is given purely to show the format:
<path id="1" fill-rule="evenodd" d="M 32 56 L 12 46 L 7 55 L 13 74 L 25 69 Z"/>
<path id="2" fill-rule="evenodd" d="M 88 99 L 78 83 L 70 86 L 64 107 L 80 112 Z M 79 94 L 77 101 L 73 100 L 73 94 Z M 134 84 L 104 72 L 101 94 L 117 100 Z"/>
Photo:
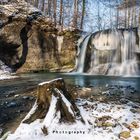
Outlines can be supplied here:
<path id="1" fill-rule="evenodd" d="M 26 0 L 61 29 L 86 31 L 134 28 L 140 24 L 140 0 Z"/>

